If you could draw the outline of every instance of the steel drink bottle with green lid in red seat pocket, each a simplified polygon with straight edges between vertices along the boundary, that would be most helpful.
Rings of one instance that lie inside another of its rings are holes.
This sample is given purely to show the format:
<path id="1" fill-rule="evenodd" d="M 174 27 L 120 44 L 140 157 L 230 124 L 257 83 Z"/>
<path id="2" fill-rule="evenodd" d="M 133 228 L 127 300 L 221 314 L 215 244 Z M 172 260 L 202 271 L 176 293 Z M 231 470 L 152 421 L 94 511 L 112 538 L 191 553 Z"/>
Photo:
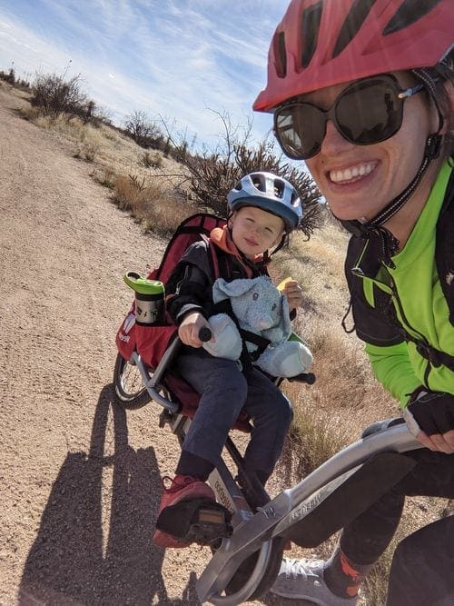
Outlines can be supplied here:
<path id="1" fill-rule="evenodd" d="M 128 272 L 124 282 L 135 293 L 135 322 L 141 326 L 163 323 L 165 314 L 165 289 L 160 280 L 148 280 L 140 273 Z"/>

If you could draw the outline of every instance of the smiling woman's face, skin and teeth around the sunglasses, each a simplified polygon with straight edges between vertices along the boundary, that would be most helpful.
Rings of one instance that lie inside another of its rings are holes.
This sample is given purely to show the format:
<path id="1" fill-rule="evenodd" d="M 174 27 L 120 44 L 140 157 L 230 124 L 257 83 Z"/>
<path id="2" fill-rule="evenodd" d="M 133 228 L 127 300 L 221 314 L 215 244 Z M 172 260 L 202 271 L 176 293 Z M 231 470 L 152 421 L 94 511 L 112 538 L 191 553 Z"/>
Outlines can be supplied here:
<path id="1" fill-rule="evenodd" d="M 402 88 L 415 84 L 408 75 L 396 77 Z M 327 109 L 349 84 L 304 94 L 301 101 Z M 437 129 L 438 116 L 435 108 L 429 108 L 427 94 L 415 94 L 405 100 L 402 125 L 390 139 L 351 144 L 329 121 L 320 152 L 306 164 L 336 217 L 370 220 L 410 184 L 422 162 L 426 139 Z"/>

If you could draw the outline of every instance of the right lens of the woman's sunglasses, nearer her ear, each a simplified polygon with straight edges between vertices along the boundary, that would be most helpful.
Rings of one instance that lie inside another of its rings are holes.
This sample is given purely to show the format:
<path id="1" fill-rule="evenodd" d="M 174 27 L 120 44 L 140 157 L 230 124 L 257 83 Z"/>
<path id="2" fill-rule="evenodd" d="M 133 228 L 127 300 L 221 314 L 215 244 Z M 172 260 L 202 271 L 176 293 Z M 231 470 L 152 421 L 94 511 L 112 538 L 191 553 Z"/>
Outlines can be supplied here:
<path id="1" fill-rule="evenodd" d="M 351 143 L 380 143 L 395 134 L 402 124 L 402 102 L 390 83 L 366 81 L 349 86 L 336 103 L 341 134 Z"/>

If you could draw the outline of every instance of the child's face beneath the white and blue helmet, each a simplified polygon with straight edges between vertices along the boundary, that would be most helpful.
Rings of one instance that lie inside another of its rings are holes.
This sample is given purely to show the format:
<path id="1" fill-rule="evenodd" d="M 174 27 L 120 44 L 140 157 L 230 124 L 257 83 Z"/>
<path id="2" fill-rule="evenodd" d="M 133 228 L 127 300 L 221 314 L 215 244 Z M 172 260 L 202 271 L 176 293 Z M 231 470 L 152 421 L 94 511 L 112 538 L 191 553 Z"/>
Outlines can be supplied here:
<path id="1" fill-rule="evenodd" d="M 281 217 L 255 206 L 243 206 L 233 213 L 229 225 L 233 242 L 248 259 L 280 243 L 285 227 Z"/>

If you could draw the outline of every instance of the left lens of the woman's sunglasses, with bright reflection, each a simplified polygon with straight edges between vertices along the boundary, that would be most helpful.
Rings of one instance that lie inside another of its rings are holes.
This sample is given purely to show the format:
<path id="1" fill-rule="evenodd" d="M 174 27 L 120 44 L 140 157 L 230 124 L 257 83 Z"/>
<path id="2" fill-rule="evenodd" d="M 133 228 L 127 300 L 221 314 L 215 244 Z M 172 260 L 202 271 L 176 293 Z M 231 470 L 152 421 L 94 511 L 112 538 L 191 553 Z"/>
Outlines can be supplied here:
<path id="1" fill-rule="evenodd" d="M 274 132 L 284 154 L 305 160 L 318 154 L 325 136 L 326 118 L 318 107 L 290 104 L 274 114 Z"/>

